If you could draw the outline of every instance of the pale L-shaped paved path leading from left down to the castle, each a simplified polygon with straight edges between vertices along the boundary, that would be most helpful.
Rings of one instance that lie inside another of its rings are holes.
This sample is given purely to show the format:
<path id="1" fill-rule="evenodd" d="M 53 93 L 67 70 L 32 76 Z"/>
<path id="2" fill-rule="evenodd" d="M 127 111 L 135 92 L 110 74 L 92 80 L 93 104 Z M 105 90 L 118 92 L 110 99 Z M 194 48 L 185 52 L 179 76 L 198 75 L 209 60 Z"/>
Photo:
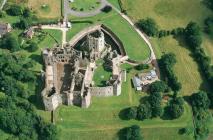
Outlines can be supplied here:
<path id="1" fill-rule="evenodd" d="M 41 29 L 61 30 L 62 31 L 62 45 L 67 43 L 66 32 L 68 31 L 68 28 L 61 27 L 58 25 L 42 25 Z"/>

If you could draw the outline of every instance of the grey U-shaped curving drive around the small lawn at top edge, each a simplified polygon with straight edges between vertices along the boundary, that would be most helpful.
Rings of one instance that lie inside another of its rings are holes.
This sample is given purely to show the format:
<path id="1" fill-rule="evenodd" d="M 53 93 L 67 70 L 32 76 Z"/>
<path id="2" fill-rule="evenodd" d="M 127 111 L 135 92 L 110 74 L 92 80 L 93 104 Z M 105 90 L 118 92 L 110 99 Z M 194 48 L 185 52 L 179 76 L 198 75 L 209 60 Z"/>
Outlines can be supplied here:
<path id="1" fill-rule="evenodd" d="M 69 2 L 68 0 L 64 0 L 64 17 L 65 19 L 67 19 L 68 15 L 73 15 L 76 17 L 91 17 L 91 16 L 95 16 L 99 13 L 101 13 L 101 9 L 103 9 L 106 5 L 108 5 L 109 3 L 107 2 L 107 0 L 100 0 L 100 7 L 98 7 L 95 10 L 92 11 L 87 11 L 87 12 L 81 12 L 81 11 L 74 11 L 69 7 Z"/>

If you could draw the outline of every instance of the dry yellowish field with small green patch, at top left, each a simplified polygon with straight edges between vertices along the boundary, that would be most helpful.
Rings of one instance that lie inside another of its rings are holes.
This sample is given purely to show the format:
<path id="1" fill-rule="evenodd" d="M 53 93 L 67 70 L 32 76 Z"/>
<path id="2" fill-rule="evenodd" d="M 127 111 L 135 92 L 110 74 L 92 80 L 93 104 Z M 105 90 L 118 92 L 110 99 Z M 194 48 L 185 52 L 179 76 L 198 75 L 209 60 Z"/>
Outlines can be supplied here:
<path id="1" fill-rule="evenodd" d="M 27 6 L 39 18 L 59 19 L 61 16 L 61 0 L 28 0 Z"/>

